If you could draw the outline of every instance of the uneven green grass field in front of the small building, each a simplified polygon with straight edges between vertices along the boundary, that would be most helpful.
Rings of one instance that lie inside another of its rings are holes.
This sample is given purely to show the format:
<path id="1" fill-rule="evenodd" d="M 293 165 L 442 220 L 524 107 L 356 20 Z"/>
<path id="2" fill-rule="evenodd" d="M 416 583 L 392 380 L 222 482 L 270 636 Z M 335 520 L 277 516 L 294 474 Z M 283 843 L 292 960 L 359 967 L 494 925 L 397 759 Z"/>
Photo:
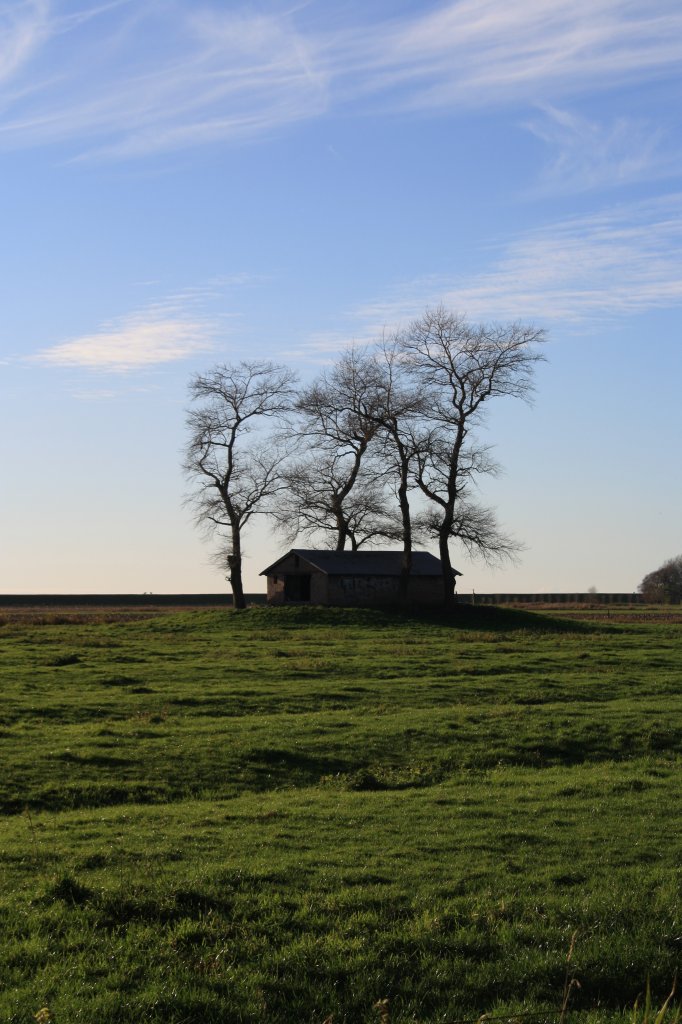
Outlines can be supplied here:
<path id="1" fill-rule="evenodd" d="M 0 609 L 0 1020 L 662 1006 L 682 622 L 590 614 Z"/>

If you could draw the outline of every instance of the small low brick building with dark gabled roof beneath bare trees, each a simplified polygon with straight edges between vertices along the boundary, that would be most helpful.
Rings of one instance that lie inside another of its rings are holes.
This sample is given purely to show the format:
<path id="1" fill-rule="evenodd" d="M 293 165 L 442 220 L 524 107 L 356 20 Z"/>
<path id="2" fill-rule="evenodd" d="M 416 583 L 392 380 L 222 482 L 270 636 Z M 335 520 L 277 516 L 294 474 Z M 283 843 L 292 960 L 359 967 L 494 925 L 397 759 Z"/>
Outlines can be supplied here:
<path id="1" fill-rule="evenodd" d="M 426 551 L 413 552 L 412 559 L 410 602 L 442 604 L 440 560 Z M 400 551 L 292 548 L 260 574 L 267 578 L 268 604 L 387 605 L 400 599 L 401 564 Z"/>

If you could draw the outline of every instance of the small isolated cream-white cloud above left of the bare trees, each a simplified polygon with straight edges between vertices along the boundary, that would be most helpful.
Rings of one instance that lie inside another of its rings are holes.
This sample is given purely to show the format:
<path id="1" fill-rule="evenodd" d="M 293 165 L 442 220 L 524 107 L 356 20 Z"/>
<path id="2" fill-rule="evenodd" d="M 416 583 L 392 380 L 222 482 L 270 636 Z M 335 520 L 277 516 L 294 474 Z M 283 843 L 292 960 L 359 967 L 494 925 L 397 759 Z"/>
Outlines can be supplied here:
<path id="1" fill-rule="evenodd" d="M 148 306 L 82 335 L 44 348 L 33 357 L 50 367 L 126 373 L 210 351 L 216 325 L 188 314 L 177 302 Z"/>

